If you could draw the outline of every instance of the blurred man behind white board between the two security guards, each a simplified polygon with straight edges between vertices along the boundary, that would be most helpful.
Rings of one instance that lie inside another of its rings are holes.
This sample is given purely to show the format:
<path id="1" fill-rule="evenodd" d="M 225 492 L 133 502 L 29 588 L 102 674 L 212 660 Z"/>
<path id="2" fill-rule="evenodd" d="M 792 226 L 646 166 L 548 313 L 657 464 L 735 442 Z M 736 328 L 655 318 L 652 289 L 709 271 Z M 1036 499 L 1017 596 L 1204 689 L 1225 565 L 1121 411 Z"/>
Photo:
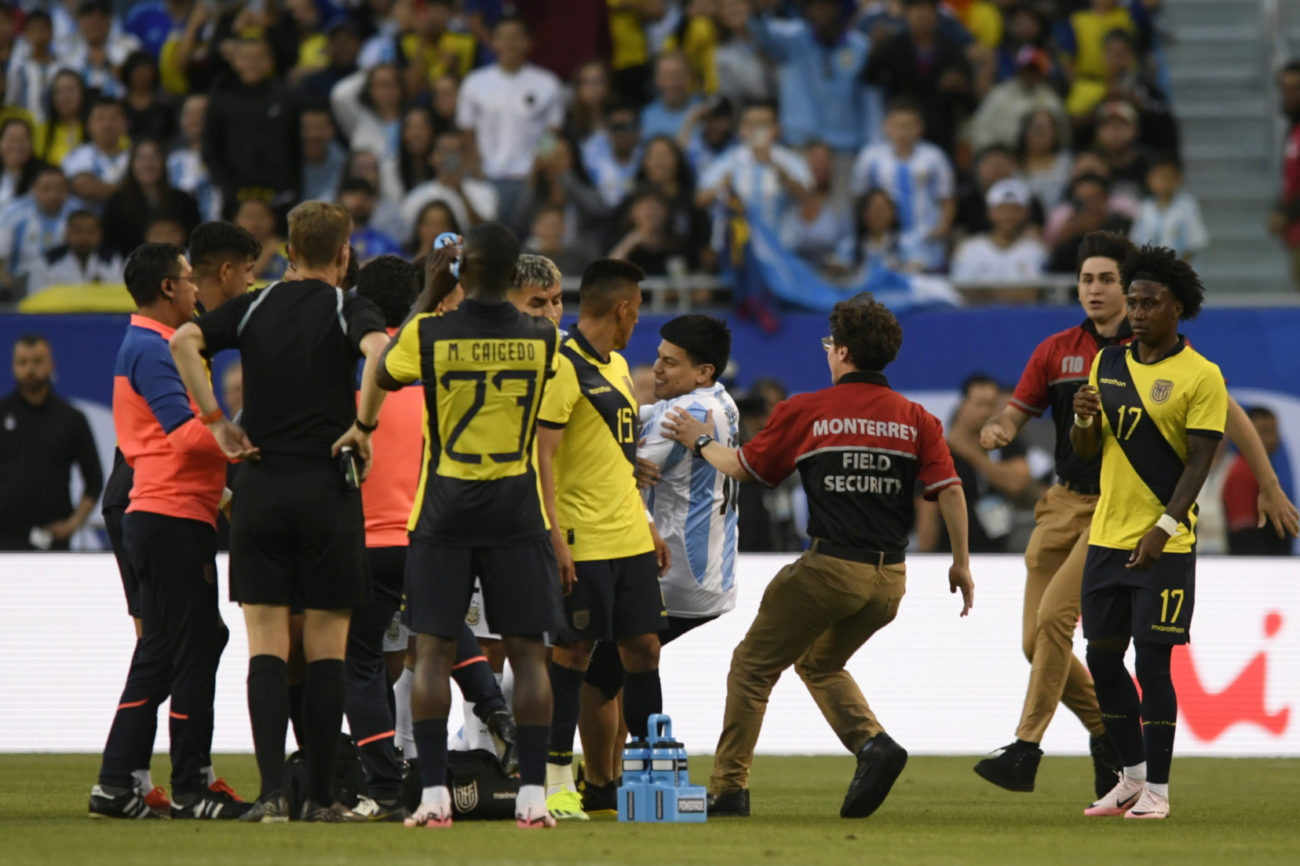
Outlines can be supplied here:
<path id="1" fill-rule="evenodd" d="M 1004 205 L 1005 207 L 1005 205 Z M 1015 501 L 1030 489 L 1030 463 L 1022 442 L 985 451 L 979 432 L 1006 400 L 997 380 L 975 373 L 962 382 L 962 402 L 948 425 L 948 450 L 966 494 L 971 553 L 1009 553 Z M 948 553 L 952 540 L 928 502 L 916 503 L 916 544 L 922 553 Z"/>

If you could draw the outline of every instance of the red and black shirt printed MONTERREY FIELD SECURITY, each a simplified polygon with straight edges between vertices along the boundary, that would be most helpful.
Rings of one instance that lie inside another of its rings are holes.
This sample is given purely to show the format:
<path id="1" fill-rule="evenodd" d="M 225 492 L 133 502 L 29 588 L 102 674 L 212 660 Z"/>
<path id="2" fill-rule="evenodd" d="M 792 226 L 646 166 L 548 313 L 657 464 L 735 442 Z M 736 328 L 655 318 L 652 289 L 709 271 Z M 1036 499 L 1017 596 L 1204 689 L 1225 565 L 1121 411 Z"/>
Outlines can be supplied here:
<path id="1" fill-rule="evenodd" d="M 780 403 L 740 460 L 768 486 L 800 471 L 814 538 L 885 553 L 907 546 L 918 482 L 961 484 L 939 419 L 863 371 Z"/>

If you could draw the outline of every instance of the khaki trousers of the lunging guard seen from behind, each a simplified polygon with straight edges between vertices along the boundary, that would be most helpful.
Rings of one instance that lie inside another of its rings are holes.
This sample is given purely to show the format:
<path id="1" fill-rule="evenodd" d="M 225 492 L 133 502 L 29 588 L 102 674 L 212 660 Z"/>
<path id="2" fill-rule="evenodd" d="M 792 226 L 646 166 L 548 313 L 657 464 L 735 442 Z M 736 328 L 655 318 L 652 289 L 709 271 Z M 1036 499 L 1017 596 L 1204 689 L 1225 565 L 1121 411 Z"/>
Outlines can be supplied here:
<path id="1" fill-rule="evenodd" d="M 881 732 L 867 700 L 844 670 L 859 646 L 898 612 L 906 570 L 807 551 L 767 585 L 754 624 L 732 654 L 727 713 L 708 789 L 749 785 L 767 697 L 790 664 L 849 752 Z"/>

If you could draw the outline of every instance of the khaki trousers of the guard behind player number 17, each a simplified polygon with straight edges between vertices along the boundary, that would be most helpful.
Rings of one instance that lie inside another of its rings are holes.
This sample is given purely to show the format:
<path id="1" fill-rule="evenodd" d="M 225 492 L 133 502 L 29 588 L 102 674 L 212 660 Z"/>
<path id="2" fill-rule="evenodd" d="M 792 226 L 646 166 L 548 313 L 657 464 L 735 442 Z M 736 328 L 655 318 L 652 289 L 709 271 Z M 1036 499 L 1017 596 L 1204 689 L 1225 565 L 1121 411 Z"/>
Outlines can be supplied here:
<path id="1" fill-rule="evenodd" d="M 1024 549 L 1028 576 L 1022 642 L 1030 659 L 1030 688 L 1015 731 L 1020 740 L 1041 742 L 1058 703 L 1070 707 L 1093 736 L 1105 732 L 1092 676 L 1074 654 L 1083 562 L 1096 507 L 1097 497 L 1057 484 L 1034 510 L 1036 525 Z"/>

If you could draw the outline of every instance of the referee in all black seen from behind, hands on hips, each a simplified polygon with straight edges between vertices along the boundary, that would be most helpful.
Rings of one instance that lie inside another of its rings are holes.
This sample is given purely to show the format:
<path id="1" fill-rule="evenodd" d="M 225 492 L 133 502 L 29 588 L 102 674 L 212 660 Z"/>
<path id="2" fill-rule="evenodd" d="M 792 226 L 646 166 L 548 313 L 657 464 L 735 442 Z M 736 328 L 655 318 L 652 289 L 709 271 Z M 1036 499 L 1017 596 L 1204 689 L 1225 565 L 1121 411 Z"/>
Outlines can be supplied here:
<path id="1" fill-rule="evenodd" d="M 369 596 L 361 494 L 332 447 L 356 417 L 356 361 L 387 345 L 384 316 L 338 287 L 347 273 L 351 220 L 306 202 L 289 215 L 289 256 L 299 278 L 231 300 L 172 338 L 172 354 L 204 424 L 231 459 L 230 597 L 248 628 L 248 715 L 261 794 L 246 820 L 286 820 L 281 792 L 289 724 L 290 607 L 304 610 L 303 715 L 309 791 L 303 819 L 359 818 L 333 802 L 330 779 L 343 718 L 350 610 Z M 238 348 L 240 429 L 217 407 L 203 352 Z M 365 437 L 363 436 L 363 440 Z M 365 456 L 368 441 L 359 443 Z"/>

